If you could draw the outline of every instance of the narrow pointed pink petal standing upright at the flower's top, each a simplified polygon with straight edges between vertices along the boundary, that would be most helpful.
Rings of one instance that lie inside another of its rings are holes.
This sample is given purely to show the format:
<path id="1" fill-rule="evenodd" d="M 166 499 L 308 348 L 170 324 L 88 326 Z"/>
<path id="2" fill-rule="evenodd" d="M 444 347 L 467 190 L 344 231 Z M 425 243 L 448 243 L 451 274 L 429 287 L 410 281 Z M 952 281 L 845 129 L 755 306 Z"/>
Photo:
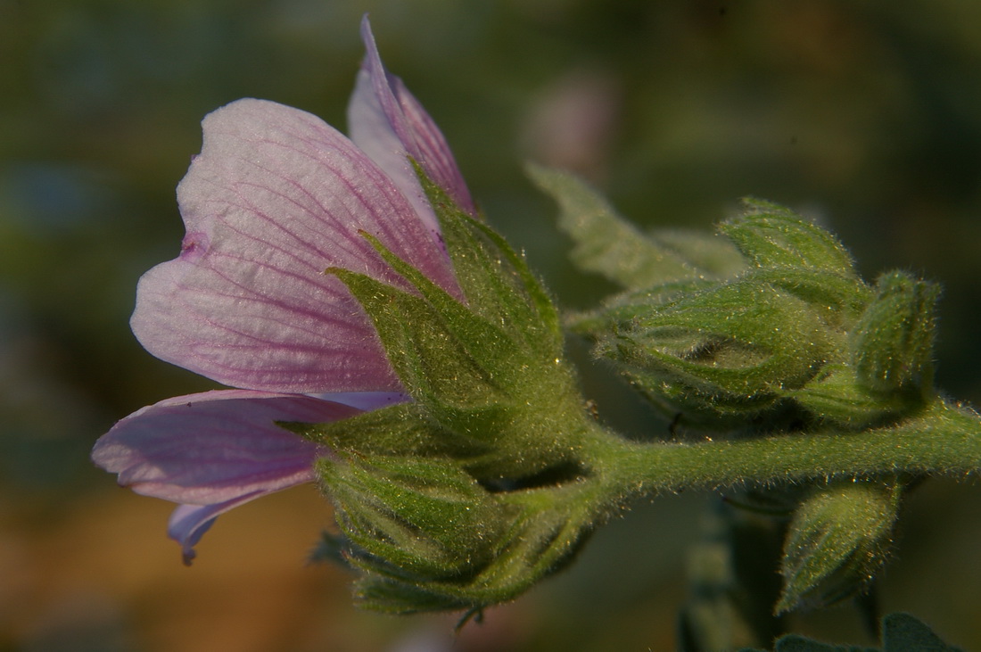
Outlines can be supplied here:
<path id="1" fill-rule="evenodd" d="M 351 139 L 402 189 L 434 233 L 436 216 L 406 156 L 411 156 L 439 187 L 476 215 L 467 184 L 439 127 L 402 80 L 388 75 L 366 16 L 361 37 L 367 54 L 347 107 Z"/>

